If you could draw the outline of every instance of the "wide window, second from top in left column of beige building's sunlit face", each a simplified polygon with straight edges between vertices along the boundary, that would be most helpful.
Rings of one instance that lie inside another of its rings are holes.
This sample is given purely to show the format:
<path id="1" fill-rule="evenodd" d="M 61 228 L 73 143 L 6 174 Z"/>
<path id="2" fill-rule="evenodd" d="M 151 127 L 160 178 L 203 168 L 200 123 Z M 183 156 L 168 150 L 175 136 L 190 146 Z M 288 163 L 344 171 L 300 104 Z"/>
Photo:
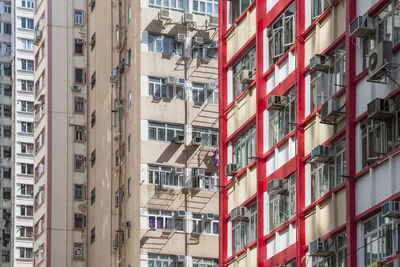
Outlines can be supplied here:
<path id="1" fill-rule="evenodd" d="M 173 0 L 171 0 L 173 1 Z M 178 43 L 175 37 L 149 33 L 148 51 L 170 56 L 183 56 L 184 43 Z"/>

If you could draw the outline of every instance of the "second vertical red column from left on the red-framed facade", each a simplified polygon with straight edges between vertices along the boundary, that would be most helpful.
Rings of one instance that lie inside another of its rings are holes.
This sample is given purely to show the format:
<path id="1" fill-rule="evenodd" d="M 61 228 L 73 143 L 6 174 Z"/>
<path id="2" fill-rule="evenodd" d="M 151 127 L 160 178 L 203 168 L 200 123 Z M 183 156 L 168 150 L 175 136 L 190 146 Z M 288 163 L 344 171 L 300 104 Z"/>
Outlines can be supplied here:
<path id="1" fill-rule="evenodd" d="M 256 130 L 257 130 L 257 266 L 263 267 L 267 251 L 264 241 L 264 180 L 266 161 L 261 159 L 264 153 L 263 112 L 266 96 L 266 80 L 263 78 L 263 17 L 266 13 L 266 1 L 256 0 Z"/>

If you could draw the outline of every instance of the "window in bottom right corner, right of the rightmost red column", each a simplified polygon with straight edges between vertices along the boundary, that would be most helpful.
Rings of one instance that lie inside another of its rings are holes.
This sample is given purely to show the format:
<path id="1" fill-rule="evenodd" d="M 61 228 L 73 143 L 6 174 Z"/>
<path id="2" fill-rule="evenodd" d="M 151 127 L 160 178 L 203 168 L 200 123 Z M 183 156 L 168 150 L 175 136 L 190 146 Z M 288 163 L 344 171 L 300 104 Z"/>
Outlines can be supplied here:
<path id="1" fill-rule="evenodd" d="M 363 223 L 364 265 L 394 256 L 399 250 L 400 223 L 378 214 Z"/>

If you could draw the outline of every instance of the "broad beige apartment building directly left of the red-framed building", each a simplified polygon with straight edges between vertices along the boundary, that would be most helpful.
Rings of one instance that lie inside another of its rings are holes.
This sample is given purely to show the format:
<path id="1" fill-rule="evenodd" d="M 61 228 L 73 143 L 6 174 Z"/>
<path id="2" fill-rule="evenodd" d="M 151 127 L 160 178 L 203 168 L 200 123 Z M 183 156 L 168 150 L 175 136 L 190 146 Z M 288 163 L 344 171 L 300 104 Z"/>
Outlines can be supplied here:
<path id="1" fill-rule="evenodd" d="M 218 1 L 88 1 L 87 266 L 218 266 Z"/>

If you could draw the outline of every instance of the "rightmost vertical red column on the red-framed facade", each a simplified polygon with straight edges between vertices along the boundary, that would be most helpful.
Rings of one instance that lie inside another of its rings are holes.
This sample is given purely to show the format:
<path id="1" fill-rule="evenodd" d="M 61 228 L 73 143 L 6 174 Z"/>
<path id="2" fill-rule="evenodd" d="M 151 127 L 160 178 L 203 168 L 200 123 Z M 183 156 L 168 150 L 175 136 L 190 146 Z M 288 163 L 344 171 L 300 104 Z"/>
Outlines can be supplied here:
<path id="1" fill-rule="evenodd" d="M 356 174 L 356 56 L 353 39 L 349 36 L 349 24 L 356 16 L 356 0 L 346 1 L 346 176 Z M 355 222 L 355 183 L 346 180 L 346 231 L 347 266 L 357 266 L 357 225 Z"/>

